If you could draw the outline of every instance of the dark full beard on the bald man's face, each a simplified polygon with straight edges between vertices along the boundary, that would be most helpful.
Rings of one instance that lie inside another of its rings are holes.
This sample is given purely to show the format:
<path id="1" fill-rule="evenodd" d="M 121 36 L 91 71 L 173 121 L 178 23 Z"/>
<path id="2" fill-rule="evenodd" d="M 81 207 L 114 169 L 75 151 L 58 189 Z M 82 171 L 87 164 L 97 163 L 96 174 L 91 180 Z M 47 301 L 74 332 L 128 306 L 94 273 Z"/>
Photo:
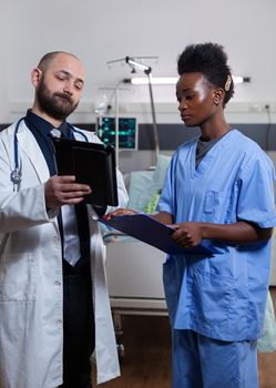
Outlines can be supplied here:
<path id="1" fill-rule="evenodd" d="M 43 112 L 49 116 L 64 121 L 78 106 L 79 102 L 73 103 L 71 95 L 67 93 L 51 93 L 43 79 L 37 89 L 37 99 Z"/>

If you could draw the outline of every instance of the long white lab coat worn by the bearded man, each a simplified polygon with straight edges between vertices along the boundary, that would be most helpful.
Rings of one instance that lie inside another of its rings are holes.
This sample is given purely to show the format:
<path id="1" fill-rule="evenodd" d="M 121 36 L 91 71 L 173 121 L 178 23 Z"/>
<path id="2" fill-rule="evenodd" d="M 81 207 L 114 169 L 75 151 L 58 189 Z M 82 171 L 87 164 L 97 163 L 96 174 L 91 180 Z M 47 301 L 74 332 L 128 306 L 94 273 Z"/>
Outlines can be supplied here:
<path id="1" fill-rule="evenodd" d="M 49 170 L 31 131 L 18 132 L 22 180 L 13 191 L 14 127 L 0 133 L 0 387 L 53 388 L 62 384 L 62 258 L 57 213 L 47 213 Z M 85 132 L 92 142 L 99 139 Z M 75 135 L 78 137 L 78 134 Z M 78 140 L 82 140 L 80 136 Z M 127 194 L 117 172 L 120 206 Z M 89 215 L 93 207 L 88 205 Z M 105 249 L 91 228 L 91 274 L 98 382 L 120 375 L 105 282 Z"/>

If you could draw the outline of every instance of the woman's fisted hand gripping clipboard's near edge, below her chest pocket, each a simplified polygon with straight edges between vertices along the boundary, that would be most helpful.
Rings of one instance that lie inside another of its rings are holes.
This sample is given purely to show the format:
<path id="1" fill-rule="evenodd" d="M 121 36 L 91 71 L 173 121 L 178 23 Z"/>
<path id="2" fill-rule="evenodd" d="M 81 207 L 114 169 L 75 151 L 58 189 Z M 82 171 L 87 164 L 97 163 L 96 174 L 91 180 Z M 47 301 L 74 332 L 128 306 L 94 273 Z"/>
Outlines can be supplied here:
<path id="1" fill-rule="evenodd" d="M 192 248 L 202 241 L 201 223 L 188 222 L 171 225 L 175 228 L 172 238 L 183 248 Z"/>

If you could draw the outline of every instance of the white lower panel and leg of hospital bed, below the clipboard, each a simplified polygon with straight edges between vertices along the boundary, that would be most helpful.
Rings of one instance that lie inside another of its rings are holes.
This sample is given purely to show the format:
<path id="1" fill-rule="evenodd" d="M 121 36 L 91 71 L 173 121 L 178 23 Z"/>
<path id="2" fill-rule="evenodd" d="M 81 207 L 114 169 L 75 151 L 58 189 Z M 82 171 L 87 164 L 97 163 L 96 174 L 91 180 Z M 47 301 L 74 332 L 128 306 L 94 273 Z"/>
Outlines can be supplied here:
<path id="1" fill-rule="evenodd" d="M 120 233 L 108 234 L 106 275 L 119 355 L 125 315 L 167 315 L 162 284 L 165 253 Z"/>

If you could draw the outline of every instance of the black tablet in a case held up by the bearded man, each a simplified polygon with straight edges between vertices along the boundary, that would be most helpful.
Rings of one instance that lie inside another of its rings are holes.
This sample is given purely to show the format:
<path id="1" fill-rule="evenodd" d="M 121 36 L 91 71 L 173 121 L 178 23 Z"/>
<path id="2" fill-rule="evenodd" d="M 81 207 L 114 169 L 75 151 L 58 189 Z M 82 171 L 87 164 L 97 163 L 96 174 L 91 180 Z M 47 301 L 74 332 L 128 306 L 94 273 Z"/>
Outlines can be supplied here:
<path id="1" fill-rule="evenodd" d="M 75 175 L 92 193 L 85 203 L 99 206 L 117 206 L 117 183 L 114 147 L 72 139 L 53 139 L 59 175 Z"/>

